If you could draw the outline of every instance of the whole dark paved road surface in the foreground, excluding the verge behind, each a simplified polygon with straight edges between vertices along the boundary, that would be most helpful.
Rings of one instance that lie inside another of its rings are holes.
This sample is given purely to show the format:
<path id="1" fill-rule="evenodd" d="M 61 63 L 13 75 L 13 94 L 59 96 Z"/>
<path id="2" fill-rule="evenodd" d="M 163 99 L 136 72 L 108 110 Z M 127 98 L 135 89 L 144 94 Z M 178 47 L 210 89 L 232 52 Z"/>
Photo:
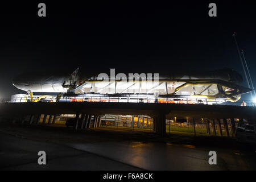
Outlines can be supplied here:
<path id="1" fill-rule="evenodd" d="M 255 154 L 216 150 L 217 165 L 209 165 L 209 149 L 194 146 L 94 142 L 65 145 L 35 142 L 0 133 L 0 169 L 6 170 L 228 170 L 255 169 Z M 47 154 L 39 165 L 38 151 Z"/>

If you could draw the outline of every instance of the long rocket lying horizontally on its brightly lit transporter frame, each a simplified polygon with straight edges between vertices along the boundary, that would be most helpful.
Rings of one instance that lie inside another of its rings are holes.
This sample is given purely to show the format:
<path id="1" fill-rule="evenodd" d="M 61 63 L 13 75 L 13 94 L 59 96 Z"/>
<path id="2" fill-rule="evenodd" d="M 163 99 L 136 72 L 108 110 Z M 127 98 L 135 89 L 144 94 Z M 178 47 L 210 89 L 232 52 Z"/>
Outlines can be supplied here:
<path id="1" fill-rule="evenodd" d="M 26 92 L 30 90 L 31 93 L 64 93 L 63 96 L 90 94 L 108 97 L 107 100 L 110 98 L 109 95 L 137 96 L 140 102 L 155 96 L 156 99 L 159 98 L 155 100 L 159 103 L 176 104 L 220 104 L 224 99 L 236 102 L 240 100 L 241 94 L 251 92 L 250 88 L 242 86 L 242 76 L 228 68 L 200 72 L 172 71 L 168 74 L 115 74 L 111 69 L 109 75 L 100 73 L 98 76 L 85 76 L 79 72 L 79 68 L 71 75 L 24 73 L 14 78 L 13 85 Z M 167 97 L 179 100 L 166 100 Z M 187 101 L 186 97 L 196 99 Z M 206 101 L 206 98 L 209 100 Z"/>

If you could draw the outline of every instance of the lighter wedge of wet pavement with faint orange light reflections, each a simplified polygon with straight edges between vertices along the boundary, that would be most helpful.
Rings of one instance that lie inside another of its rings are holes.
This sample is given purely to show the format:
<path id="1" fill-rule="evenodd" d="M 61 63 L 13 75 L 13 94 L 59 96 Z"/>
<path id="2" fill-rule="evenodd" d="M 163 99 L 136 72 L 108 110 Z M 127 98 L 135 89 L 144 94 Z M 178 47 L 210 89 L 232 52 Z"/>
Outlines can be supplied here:
<path id="1" fill-rule="evenodd" d="M 209 165 L 208 150 L 191 145 L 162 143 L 69 143 L 68 146 L 92 152 L 122 163 L 147 170 L 226 170 L 226 164 L 217 158 L 217 165 Z"/>

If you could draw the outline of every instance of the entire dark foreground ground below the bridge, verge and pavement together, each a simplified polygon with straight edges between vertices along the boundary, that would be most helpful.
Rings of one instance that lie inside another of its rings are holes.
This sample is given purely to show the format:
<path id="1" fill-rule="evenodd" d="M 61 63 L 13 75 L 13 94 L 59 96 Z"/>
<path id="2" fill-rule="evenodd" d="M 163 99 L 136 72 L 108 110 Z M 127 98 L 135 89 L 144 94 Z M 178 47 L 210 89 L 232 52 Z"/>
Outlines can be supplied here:
<path id="1" fill-rule="evenodd" d="M 47 164 L 38 164 L 38 151 Z M 209 165 L 208 152 L 217 152 Z M 1 170 L 255 170 L 255 148 L 235 138 L 0 123 Z"/>

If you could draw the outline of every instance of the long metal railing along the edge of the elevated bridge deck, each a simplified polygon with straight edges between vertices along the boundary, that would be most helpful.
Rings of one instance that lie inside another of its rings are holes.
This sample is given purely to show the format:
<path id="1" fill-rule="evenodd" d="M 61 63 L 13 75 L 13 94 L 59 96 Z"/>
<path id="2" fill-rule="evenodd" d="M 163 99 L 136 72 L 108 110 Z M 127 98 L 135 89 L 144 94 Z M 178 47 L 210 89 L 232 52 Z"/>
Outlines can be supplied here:
<path id="1" fill-rule="evenodd" d="M 15 97 L 0 99 L 1 103 L 31 102 L 26 97 Z M 129 103 L 162 103 L 162 104 L 198 104 L 198 105 L 235 105 L 235 106 L 255 106 L 251 100 L 239 100 L 230 102 L 225 98 L 161 98 L 154 97 L 105 97 L 105 96 L 78 96 L 64 97 L 57 101 L 56 96 L 47 97 L 38 102 L 129 102 Z"/>

